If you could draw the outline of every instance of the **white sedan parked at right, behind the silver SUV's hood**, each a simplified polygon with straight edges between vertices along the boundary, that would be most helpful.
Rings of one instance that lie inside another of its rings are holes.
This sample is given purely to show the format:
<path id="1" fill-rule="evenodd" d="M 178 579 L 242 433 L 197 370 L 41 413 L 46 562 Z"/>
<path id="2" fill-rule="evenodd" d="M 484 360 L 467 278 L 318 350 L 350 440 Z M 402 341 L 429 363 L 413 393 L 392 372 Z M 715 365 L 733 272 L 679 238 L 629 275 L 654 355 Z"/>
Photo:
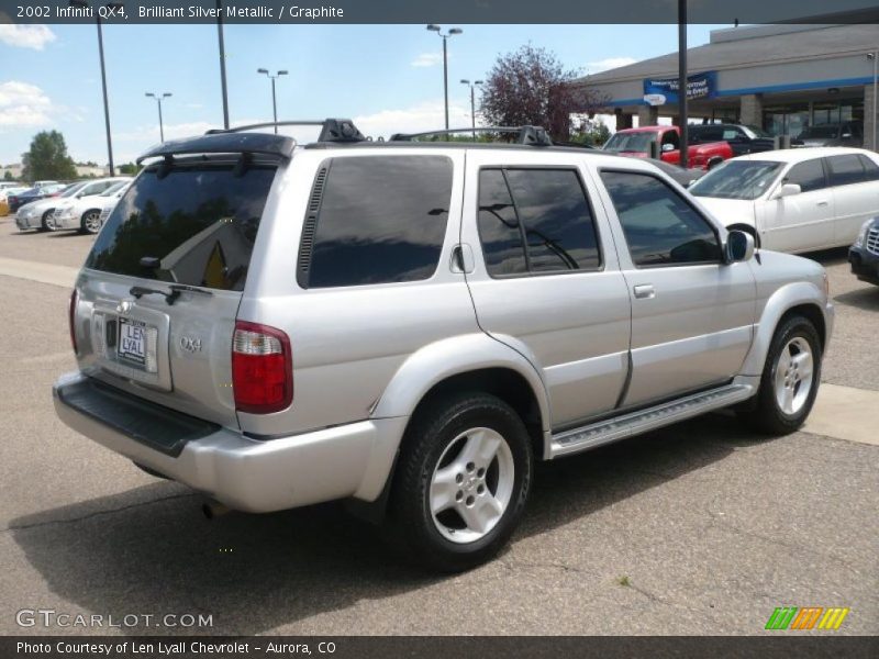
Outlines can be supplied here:
<path id="1" fill-rule="evenodd" d="M 845 147 L 752 154 L 712 169 L 690 192 L 727 228 L 749 232 L 766 249 L 848 246 L 879 215 L 879 156 Z"/>

